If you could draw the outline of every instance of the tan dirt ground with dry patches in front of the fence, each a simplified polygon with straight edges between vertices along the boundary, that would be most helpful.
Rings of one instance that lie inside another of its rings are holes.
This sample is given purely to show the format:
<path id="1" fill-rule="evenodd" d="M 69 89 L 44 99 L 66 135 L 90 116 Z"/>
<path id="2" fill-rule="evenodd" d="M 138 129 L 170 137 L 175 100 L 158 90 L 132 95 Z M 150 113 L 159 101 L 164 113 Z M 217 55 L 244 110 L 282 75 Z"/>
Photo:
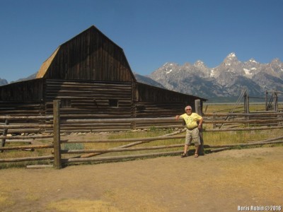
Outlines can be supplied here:
<path id="1" fill-rule="evenodd" d="M 283 146 L 277 146 L 62 170 L 6 169 L 0 170 L 0 211 L 238 211 L 245 206 L 283 206 L 282 164 Z"/>

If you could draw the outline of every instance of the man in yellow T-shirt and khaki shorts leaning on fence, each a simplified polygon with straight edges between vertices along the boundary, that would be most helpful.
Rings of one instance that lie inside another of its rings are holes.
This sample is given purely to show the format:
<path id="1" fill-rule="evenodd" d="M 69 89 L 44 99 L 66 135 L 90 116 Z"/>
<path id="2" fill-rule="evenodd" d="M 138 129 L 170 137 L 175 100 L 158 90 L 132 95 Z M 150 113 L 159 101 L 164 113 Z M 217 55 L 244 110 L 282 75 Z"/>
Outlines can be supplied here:
<path id="1" fill-rule="evenodd" d="M 184 119 L 185 124 L 187 126 L 186 130 L 186 136 L 185 136 L 185 148 L 184 148 L 184 153 L 181 155 L 181 158 L 187 157 L 187 150 L 190 146 L 190 143 L 195 143 L 195 158 L 197 158 L 199 148 L 200 148 L 200 131 L 199 129 L 202 129 L 202 117 L 195 113 L 192 112 L 192 107 L 188 105 L 185 107 L 185 113 L 182 115 L 176 115 L 175 119 Z"/>

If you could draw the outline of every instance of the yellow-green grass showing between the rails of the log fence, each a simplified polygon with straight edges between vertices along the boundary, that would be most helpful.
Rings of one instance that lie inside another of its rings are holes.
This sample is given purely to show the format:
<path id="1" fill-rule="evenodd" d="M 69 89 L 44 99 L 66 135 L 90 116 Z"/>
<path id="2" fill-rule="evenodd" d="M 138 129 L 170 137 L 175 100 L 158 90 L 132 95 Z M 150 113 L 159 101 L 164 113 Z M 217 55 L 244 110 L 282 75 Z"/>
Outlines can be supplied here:
<path id="1" fill-rule="evenodd" d="M 147 138 L 162 136 L 165 134 L 172 133 L 172 130 L 151 130 L 151 131 L 129 131 L 107 134 L 106 138 L 103 139 L 134 139 L 134 138 Z M 185 132 L 183 133 L 185 136 Z M 282 129 L 270 129 L 261 131 L 222 131 L 222 132 L 203 132 L 204 145 L 224 145 L 224 144 L 234 144 L 234 143 L 248 143 L 253 141 L 262 141 L 265 139 L 271 139 L 275 137 L 283 136 Z M 101 139 L 99 134 L 93 134 L 92 139 Z M 105 148 L 115 148 L 117 146 L 122 146 L 131 142 L 123 143 L 64 143 L 62 144 L 62 149 L 105 149 Z M 137 146 L 163 146 L 171 144 L 182 144 L 184 139 L 170 139 L 170 140 L 158 140 L 151 141 L 147 143 L 142 143 Z M 280 144 L 282 146 L 282 144 Z M 235 147 L 236 148 L 236 147 Z M 241 147 L 242 148 L 242 147 Z M 194 146 L 190 146 L 190 150 L 194 149 Z M 206 148 L 206 150 L 208 150 Z M 52 149 L 35 149 L 35 151 L 4 151 L 0 153 L 1 158 L 23 158 L 23 157 L 33 157 L 42 155 L 51 155 Z M 136 155 L 143 153 L 156 153 L 156 152 L 166 152 L 166 151 L 183 151 L 183 146 L 178 148 L 166 148 L 152 151 L 129 151 L 129 152 L 118 152 L 118 153 L 105 153 L 100 155 L 104 156 L 115 156 L 115 155 Z M 64 155 L 62 158 L 75 157 L 74 154 Z M 40 165 L 40 164 L 51 164 L 50 160 L 38 160 L 30 162 L 16 162 L 16 163 L 0 163 L 0 169 L 8 167 L 25 167 L 26 165 Z"/>

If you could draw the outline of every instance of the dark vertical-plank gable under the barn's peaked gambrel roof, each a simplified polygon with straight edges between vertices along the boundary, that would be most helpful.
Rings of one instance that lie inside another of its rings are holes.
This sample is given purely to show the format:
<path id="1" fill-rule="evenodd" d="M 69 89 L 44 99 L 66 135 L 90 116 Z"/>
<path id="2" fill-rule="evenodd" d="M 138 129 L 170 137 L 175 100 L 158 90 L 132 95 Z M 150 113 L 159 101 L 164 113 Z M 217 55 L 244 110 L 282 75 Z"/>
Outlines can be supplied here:
<path id="1" fill-rule="evenodd" d="M 95 27 L 61 45 L 44 78 L 134 81 L 123 50 Z"/>

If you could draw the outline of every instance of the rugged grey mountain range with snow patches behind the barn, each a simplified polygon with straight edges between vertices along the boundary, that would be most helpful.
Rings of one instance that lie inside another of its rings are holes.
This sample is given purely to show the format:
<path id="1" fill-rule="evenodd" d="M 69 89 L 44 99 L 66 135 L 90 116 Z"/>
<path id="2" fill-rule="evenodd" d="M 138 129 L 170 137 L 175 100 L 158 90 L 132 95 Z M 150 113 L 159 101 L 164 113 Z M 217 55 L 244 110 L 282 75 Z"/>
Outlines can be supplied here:
<path id="1" fill-rule="evenodd" d="M 35 76 L 36 73 L 18 81 Z M 134 73 L 134 76 L 141 83 L 200 96 L 212 102 L 236 100 L 244 88 L 250 97 L 255 98 L 264 98 L 266 91 L 283 92 L 282 61 L 273 59 L 268 64 L 261 64 L 249 59 L 242 62 L 233 52 L 214 68 L 207 67 L 201 60 L 183 65 L 167 62 L 148 76 L 138 73 Z M 0 86 L 7 83 L 0 78 Z"/>

